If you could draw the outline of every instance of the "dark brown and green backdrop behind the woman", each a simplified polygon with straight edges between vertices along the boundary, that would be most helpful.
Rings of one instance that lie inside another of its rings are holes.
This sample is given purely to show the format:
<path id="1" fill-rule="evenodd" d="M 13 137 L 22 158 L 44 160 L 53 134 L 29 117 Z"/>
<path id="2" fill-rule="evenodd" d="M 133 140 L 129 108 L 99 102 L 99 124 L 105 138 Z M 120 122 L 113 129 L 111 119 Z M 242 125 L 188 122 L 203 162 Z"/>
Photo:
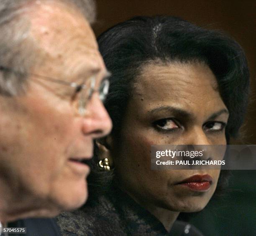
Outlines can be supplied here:
<path id="1" fill-rule="evenodd" d="M 96 0 L 98 36 L 136 15 L 174 15 L 208 29 L 225 31 L 244 48 L 251 72 L 251 102 L 242 127 L 245 144 L 256 144 L 255 0 Z M 205 236 L 256 235 L 256 171 L 233 171 L 225 197 L 210 201 L 192 219 Z"/>

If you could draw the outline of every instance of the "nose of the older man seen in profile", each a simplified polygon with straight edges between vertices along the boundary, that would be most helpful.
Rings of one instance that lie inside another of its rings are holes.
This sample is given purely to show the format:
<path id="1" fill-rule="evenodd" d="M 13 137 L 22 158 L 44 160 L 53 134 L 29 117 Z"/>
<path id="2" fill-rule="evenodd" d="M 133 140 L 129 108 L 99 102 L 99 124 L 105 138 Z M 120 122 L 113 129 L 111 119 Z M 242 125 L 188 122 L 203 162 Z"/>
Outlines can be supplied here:
<path id="1" fill-rule="evenodd" d="M 86 106 L 82 131 L 85 135 L 100 138 L 108 135 L 111 129 L 112 121 L 110 116 L 100 100 L 99 94 L 97 92 L 93 93 L 92 98 Z"/>

